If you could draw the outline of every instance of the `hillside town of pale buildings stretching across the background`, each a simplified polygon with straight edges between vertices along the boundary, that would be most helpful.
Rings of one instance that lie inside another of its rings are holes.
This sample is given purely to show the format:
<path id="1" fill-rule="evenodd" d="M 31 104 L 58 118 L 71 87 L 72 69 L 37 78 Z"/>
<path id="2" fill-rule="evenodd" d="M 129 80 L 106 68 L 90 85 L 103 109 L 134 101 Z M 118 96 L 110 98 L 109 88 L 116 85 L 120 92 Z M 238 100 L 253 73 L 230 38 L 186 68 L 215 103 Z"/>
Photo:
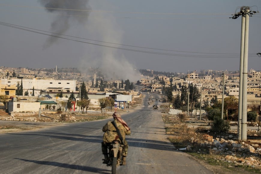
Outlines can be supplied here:
<path id="1" fill-rule="evenodd" d="M 228 96 L 238 98 L 239 93 L 238 71 L 200 70 L 187 74 L 165 72 L 164 74 L 143 70 L 137 82 L 130 82 L 128 79 L 107 80 L 98 69 L 90 72 L 82 74 L 77 68 L 57 69 L 57 66 L 54 69 L 0 67 L 0 95 L 6 96 L 1 99 L 1 109 L 9 113 L 35 112 L 39 111 L 39 108 L 66 111 L 67 106 L 62 103 L 67 102 L 69 96 L 73 94 L 75 102 L 70 110 L 75 111 L 76 102 L 80 100 L 82 85 L 85 86 L 91 102 L 88 109 L 100 108 L 98 100 L 101 98 L 112 98 L 119 109 L 125 109 L 129 107 L 133 98 L 140 95 L 140 92 L 163 94 L 166 87 L 171 87 L 173 97 L 180 96 L 183 87 L 188 87 L 190 84 L 200 91 L 201 98 L 198 101 L 202 102 L 201 105 L 210 105 L 213 98 L 222 100 L 223 76 L 225 98 Z M 21 87 L 22 92 L 18 94 L 17 88 Z M 164 96 L 159 100 L 164 100 Z M 247 104 L 249 107 L 258 107 L 260 111 L 260 102 L 261 72 L 250 69 Z"/>

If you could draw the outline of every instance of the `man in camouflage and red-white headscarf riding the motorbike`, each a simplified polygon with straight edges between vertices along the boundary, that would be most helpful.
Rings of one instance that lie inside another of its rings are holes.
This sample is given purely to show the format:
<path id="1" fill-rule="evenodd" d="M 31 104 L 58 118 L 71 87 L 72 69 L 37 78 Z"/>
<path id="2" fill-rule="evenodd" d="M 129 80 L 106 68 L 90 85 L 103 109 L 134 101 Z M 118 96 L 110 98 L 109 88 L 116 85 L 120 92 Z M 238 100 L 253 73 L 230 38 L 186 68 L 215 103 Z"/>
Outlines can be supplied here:
<path id="1" fill-rule="evenodd" d="M 131 135 L 131 129 L 128 127 L 127 123 L 121 118 L 121 114 L 118 112 L 113 113 L 113 119 L 116 122 L 116 125 L 120 131 L 122 139 L 124 141 L 124 147 L 122 152 L 122 165 L 126 165 L 126 156 L 128 153 L 128 143 L 125 140 L 126 135 Z M 102 154 L 104 155 L 103 164 L 107 164 L 109 161 L 108 157 L 108 148 L 107 146 L 110 145 L 114 140 L 120 141 L 120 137 L 117 133 L 115 126 L 113 125 L 112 121 L 109 121 L 104 127 L 102 131 L 105 132 L 103 135 L 103 142 L 101 143 Z"/>

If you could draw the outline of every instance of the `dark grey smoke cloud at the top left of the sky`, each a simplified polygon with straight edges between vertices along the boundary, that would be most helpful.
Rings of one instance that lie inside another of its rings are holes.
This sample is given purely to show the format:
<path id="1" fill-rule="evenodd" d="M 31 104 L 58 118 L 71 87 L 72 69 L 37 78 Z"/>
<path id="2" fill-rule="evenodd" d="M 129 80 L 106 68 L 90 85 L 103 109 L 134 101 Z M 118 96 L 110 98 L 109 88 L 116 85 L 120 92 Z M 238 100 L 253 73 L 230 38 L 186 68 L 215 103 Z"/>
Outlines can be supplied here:
<path id="1" fill-rule="evenodd" d="M 91 7 L 88 5 L 88 0 L 38 0 L 47 11 L 59 14 L 53 19 L 51 24 L 51 32 L 64 34 L 70 28 L 70 21 L 77 21 L 79 24 L 85 24 L 87 21 Z M 65 10 L 67 9 L 67 10 Z M 59 36 L 59 35 L 57 35 Z M 49 37 L 45 47 L 55 42 L 58 38 Z"/>

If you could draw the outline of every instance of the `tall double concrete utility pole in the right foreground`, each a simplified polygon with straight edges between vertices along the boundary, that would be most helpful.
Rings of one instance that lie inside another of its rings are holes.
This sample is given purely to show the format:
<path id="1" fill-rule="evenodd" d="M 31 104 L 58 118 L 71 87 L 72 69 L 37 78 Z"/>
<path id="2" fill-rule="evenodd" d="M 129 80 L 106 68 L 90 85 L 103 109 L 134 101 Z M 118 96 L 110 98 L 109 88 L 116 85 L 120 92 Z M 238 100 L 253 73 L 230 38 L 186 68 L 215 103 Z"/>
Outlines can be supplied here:
<path id="1" fill-rule="evenodd" d="M 259 13 L 259 11 L 252 11 L 250 7 L 242 6 L 240 8 L 240 12 L 235 13 L 233 17 L 231 17 L 232 19 L 237 19 L 238 16 L 242 15 L 240 81 L 239 81 L 239 100 L 238 100 L 238 140 L 242 140 L 242 141 L 247 141 L 247 62 L 248 62 L 249 16 L 252 16 L 255 13 Z"/>

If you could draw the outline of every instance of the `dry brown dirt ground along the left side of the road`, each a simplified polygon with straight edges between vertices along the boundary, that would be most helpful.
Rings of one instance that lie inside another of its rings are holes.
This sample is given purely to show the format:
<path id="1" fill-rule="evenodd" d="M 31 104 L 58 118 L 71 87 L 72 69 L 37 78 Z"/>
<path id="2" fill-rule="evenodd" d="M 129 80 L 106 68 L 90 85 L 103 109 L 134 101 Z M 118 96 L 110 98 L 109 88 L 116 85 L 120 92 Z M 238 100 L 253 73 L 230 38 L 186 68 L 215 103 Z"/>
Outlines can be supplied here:
<path id="1" fill-rule="evenodd" d="M 64 115 L 67 119 L 62 119 Z M 14 113 L 13 117 L 0 110 L 0 134 L 59 126 L 70 122 L 93 121 L 111 117 L 110 113 Z"/>

